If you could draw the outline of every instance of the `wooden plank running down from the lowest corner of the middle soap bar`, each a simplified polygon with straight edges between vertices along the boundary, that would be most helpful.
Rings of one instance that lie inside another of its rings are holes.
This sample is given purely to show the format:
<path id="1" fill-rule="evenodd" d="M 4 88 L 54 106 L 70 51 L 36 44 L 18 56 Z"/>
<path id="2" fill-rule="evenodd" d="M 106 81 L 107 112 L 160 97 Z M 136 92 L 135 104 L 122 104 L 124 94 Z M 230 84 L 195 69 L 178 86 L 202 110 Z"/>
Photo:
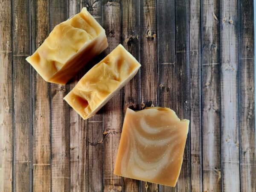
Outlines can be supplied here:
<path id="1" fill-rule="evenodd" d="M 69 0 L 69 17 L 76 15 L 85 6 L 80 1 Z M 70 90 L 75 87 L 85 70 L 70 81 Z M 70 108 L 70 188 L 71 191 L 88 191 L 88 142 L 87 121 Z"/>

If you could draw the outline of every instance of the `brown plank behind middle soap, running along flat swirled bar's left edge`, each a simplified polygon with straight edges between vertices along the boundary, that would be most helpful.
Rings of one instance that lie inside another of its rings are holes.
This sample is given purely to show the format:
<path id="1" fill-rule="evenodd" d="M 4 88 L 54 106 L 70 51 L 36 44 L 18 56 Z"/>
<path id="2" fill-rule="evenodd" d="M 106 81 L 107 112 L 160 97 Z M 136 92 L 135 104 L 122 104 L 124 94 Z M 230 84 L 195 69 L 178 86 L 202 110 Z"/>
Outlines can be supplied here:
<path id="1" fill-rule="evenodd" d="M 105 50 L 107 55 L 121 42 L 119 0 L 102 1 L 102 26 L 108 38 L 109 47 Z M 122 191 L 122 178 L 113 174 L 122 127 L 121 91 L 113 96 L 103 111 L 104 191 Z"/>

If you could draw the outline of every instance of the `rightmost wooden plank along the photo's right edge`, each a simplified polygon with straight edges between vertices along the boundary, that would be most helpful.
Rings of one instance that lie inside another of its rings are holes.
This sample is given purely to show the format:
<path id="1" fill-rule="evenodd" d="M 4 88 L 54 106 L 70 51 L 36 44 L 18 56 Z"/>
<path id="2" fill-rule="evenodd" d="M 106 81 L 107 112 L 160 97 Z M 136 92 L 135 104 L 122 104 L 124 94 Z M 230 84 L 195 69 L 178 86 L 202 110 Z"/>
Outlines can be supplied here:
<path id="1" fill-rule="evenodd" d="M 239 0 L 238 9 L 240 186 L 247 192 L 256 191 L 253 0 Z"/>

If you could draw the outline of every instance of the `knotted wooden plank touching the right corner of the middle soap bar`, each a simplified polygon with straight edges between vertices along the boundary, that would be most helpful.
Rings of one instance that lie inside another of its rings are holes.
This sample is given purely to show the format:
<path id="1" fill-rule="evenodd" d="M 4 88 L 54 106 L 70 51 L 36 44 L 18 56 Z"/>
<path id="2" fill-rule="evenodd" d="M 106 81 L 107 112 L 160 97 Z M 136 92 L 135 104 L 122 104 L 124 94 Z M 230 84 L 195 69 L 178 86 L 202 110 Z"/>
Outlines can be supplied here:
<path id="1" fill-rule="evenodd" d="M 139 1 L 140 101 L 144 107 L 157 106 L 157 3 Z M 158 191 L 159 185 L 140 182 L 141 192 Z"/>

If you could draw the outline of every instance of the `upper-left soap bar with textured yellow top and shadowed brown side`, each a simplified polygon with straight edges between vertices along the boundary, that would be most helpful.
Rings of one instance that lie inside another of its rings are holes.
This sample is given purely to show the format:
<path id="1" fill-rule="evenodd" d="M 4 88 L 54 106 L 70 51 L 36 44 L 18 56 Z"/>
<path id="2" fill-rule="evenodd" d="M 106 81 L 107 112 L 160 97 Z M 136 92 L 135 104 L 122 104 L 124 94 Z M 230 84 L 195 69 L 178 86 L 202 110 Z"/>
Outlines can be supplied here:
<path id="1" fill-rule="evenodd" d="M 45 81 L 66 84 L 90 59 L 108 47 L 105 30 L 83 8 L 58 24 L 26 58 Z"/>

